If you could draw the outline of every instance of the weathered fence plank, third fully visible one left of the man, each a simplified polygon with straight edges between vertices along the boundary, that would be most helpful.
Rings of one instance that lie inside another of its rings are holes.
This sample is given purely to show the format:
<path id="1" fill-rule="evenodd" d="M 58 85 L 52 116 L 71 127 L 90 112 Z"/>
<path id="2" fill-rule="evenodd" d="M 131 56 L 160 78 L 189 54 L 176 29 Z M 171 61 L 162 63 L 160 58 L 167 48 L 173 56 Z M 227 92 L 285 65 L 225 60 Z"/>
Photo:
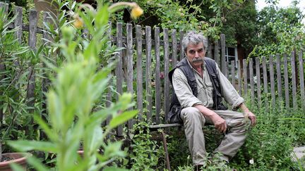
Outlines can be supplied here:
<path id="1" fill-rule="evenodd" d="M 152 41 L 151 41 L 151 27 L 145 27 L 145 40 L 146 40 L 146 101 L 148 101 L 148 105 L 146 106 L 148 112 L 146 113 L 146 117 L 148 122 L 152 121 L 152 91 L 151 91 L 151 49 L 152 49 Z"/>

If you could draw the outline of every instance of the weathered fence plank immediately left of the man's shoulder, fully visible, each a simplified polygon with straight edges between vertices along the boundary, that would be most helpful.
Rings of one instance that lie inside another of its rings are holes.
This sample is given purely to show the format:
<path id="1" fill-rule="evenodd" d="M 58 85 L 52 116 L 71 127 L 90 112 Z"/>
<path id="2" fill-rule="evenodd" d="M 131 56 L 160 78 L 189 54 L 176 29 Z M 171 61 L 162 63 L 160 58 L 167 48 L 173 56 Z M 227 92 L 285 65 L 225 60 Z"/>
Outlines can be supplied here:
<path id="1" fill-rule="evenodd" d="M 164 82 L 164 94 L 165 94 L 165 118 L 167 118 L 167 113 L 169 113 L 169 77 L 167 77 L 169 72 L 169 38 L 168 29 L 163 30 L 163 40 L 164 40 L 164 64 L 165 64 L 165 82 Z"/>

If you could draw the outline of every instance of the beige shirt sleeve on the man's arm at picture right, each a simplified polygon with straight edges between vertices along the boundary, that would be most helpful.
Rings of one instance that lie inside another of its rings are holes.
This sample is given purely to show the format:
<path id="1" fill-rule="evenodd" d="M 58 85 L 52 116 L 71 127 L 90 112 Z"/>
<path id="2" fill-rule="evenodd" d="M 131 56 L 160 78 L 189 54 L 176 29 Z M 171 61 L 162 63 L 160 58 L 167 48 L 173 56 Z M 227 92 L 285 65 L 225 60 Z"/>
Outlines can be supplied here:
<path id="1" fill-rule="evenodd" d="M 244 99 L 239 96 L 231 82 L 229 82 L 229 80 L 227 80 L 227 77 L 222 74 L 220 68 L 218 68 L 218 65 L 216 65 L 216 68 L 220 77 L 220 87 L 222 90 L 222 96 L 224 97 L 225 101 L 227 101 L 227 103 L 232 106 L 232 109 L 235 110 L 241 103 L 244 102 Z"/>

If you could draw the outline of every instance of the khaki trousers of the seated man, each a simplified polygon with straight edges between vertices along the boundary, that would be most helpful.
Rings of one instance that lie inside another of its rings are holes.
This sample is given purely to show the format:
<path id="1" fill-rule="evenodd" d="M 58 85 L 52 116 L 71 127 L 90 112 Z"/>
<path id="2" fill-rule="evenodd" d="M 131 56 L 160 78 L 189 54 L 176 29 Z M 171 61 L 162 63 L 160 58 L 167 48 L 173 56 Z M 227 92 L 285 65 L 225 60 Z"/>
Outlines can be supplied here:
<path id="1" fill-rule="evenodd" d="M 227 122 L 227 133 L 222 139 L 220 146 L 215 149 L 215 153 L 220 153 L 220 158 L 229 162 L 244 144 L 246 139 L 246 120 L 244 114 L 232 110 L 214 110 Z M 193 158 L 193 165 L 203 165 L 205 163 L 205 139 L 203 126 L 205 123 L 213 124 L 210 118 L 203 116 L 197 108 L 189 107 L 181 110 L 181 119 L 184 121 L 184 132 L 186 141 L 189 144 L 189 151 Z"/>

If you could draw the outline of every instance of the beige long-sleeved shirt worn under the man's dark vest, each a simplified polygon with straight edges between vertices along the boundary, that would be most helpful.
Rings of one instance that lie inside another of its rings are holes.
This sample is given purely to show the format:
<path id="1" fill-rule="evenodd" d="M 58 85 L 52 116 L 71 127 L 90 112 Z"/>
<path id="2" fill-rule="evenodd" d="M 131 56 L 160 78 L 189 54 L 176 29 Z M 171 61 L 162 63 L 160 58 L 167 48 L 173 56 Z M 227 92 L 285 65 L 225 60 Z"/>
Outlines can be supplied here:
<path id="1" fill-rule="evenodd" d="M 206 57 L 205 57 L 206 58 Z M 187 59 L 187 58 L 186 58 Z M 188 60 L 187 60 L 188 61 Z M 189 61 L 188 61 L 189 63 Z M 189 63 L 191 66 L 191 64 Z M 192 66 L 194 75 L 196 77 L 198 96 L 193 96 L 191 87 L 188 84 L 186 76 L 184 73 L 177 68 L 174 70 L 172 84 L 177 98 L 183 108 L 191 107 L 195 104 L 201 104 L 207 108 L 213 107 L 213 84 L 210 81 L 210 76 L 208 75 L 208 70 L 205 69 L 205 63 L 203 63 L 203 77 L 196 71 Z M 237 108 L 244 99 L 239 96 L 236 89 L 227 80 L 227 77 L 220 72 L 218 65 L 216 64 L 217 72 L 220 78 L 220 87 L 222 90 L 222 97 L 225 101 L 232 106 L 232 109 Z"/>

